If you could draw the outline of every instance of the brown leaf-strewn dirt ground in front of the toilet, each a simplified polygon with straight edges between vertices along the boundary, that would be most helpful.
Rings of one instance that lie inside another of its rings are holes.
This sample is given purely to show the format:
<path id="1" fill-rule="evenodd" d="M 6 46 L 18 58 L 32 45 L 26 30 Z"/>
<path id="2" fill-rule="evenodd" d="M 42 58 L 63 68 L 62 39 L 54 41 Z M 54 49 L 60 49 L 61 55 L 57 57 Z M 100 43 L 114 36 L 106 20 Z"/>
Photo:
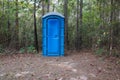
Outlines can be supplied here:
<path id="1" fill-rule="evenodd" d="M 120 60 L 91 51 L 65 57 L 41 54 L 0 55 L 0 80 L 120 80 Z"/>

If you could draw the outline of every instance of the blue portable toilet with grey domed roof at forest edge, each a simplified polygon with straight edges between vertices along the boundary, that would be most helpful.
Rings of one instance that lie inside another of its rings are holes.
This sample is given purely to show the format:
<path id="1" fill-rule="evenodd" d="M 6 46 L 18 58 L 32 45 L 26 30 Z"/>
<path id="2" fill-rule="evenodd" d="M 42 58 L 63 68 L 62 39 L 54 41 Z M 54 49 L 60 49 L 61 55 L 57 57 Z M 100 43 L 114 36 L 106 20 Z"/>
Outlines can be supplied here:
<path id="1" fill-rule="evenodd" d="M 57 12 L 42 17 L 43 56 L 64 56 L 64 16 Z"/>

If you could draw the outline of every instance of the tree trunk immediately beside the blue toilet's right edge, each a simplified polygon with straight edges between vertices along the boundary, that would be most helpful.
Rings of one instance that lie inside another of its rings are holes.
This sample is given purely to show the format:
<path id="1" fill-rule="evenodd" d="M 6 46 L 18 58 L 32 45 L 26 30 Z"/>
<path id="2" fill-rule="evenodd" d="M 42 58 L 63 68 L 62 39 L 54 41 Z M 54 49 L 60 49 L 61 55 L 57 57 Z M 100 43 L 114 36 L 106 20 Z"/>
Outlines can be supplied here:
<path id="1" fill-rule="evenodd" d="M 68 40 L 68 0 L 64 0 L 64 16 L 65 16 L 65 48 L 69 49 Z"/>

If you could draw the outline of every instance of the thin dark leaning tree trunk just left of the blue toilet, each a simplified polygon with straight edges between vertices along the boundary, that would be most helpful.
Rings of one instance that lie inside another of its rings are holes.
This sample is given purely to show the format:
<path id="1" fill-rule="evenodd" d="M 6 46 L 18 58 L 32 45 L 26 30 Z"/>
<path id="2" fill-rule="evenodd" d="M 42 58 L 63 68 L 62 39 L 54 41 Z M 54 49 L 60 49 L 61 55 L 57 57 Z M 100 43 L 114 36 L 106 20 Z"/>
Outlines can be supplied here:
<path id="1" fill-rule="evenodd" d="M 39 52 L 38 38 L 37 38 L 37 25 L 36 25 L 36 0 L 34 0 L 34 40 L 35 40 L 35 48 L 37 52 Z"/>

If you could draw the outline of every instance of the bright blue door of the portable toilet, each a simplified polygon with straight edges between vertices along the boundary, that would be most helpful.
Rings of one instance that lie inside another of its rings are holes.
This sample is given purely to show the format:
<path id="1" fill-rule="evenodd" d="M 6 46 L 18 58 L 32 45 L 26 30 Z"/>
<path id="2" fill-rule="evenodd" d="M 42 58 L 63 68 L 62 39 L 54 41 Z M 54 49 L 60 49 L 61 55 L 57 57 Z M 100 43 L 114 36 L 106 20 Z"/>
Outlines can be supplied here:
<path id="1" fill-rule="evenodd" d="M 60 22 L 58 19 L 48 19 L 48 54 L 59 54 L 60 51 Z"/>

